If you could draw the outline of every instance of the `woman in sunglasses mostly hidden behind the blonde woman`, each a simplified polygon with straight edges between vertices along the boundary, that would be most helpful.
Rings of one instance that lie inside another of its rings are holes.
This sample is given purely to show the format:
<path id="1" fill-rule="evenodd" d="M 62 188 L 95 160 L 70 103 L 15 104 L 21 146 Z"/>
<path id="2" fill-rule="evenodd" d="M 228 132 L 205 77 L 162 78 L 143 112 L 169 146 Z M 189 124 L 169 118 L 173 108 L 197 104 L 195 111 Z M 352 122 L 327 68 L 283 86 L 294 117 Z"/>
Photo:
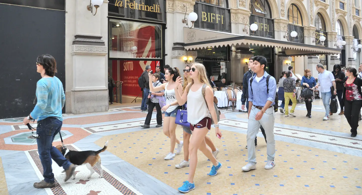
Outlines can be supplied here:
<path id="1" fill-rule="evenodd" d="M 190 78 L 190 66 L 187 65 L 184 69 L 184 85 L 182 87 L 182 91 L 185 92 L 186 87 L 188 86 L 189 83 L 192 82 L 192 79 Z M 185 103 L 185 105 L 187 104 L 187 102 Z M 187 106 L 185 106 L 184 109 L 187 109 Z M 189 144 L 190 144 L 190 137 L 191 137 L 191 129 L 189 126 L 183 126 L 182 127 L 184 129 L 184 159 L 177 165 L 175 165 L 176 168 L 180 169 L 183 167 L 187 167 L 190 165 L 189 162 Z M 207 136 L 205 136 L 205 142 L 206 144 L 211 148 L 212 150 L 212 155 L 214 155 L 214 157 L 216 158 L 216 156 L 219 153 L 219 149 L 217 149 L 214 145 L 214 143 L 212 143 L 211 139 Z"/>

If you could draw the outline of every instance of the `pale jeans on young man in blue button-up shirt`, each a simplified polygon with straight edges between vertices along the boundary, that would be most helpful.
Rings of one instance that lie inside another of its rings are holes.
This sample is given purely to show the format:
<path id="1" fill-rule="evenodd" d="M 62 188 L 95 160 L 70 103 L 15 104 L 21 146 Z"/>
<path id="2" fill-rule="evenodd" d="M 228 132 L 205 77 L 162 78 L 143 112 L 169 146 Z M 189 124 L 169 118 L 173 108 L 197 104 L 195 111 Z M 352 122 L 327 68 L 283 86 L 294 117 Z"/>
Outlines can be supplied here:
<path id="1" fill-rule="evenodd" d="M 256 164 L 255 144 L 254 140 L 256 134 L 258 134 L 260 125 L 264 127 L 266 134 L 266 154 L 268 155 L 268 161 L 273 161 L 275 156 L 275 139 L 274 139 L 274 122 L 275 113 L 274 108 L 266 109 L 265 113 L 260 120 L 255 120 L 255 116 L 260 109 L 251 108 L 250 116 L 248 120 L 248 131 L 247 131 L 247 145 L 248 145 L 248 160 L 249 163 Z"/>

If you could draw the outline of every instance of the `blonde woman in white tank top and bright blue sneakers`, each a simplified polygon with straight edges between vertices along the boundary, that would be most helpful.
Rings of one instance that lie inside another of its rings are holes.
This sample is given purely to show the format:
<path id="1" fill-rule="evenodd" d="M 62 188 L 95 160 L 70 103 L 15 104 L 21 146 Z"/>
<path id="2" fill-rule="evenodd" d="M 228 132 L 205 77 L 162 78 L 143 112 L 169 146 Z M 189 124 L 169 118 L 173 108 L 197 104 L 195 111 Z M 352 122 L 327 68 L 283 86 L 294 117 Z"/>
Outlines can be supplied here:
<path id="1" fill-rule="evenodd" d="M 190 140 L 190 169 L 188 180 L 178 188 L 180 192 L 189 192 L 195 189 L 194 176 L 197 166 L 197 150 L 200 150 L 212 162 L 210 176 L 215 176 L 222 164 L 216 160 L 209 148 L 206 146 L 205 137 L 211 129 L 212 120 L 217 122 L 216 111 L 214 108 L 214 92 L 207 80 L 205 66 L 201 63 L 194 63 L 190 71 L 191 83 L 186 86 L 185 92 L 181 96 L 181 92 L 176 92 L 176 99 L 180 104 L 184 104 L 188 99 L 188 117 L 190 129 L 193 136 Z M 181 86 L 182 78 L 177 78 L 176 84 Z M 202 95 L 202 89 L 205 87 L 205 97 Z M 215 134 L 222 134 L 219 129 L 219 124 L 215 124 Z"/>

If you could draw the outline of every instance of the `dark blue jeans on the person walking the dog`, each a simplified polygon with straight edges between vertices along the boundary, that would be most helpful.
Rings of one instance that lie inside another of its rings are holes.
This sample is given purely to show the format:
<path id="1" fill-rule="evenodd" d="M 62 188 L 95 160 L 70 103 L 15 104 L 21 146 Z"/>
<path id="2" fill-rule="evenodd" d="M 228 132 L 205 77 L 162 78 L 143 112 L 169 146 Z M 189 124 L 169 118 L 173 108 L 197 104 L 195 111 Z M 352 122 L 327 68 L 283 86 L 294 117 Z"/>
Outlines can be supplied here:
<path id="1" fill-rule="evenodd" d="M 47 183 L 54 183 L 54 174 L 51 168 L 53 159 L 60 167 L 67 170 L 71 162 L 64 158 L 63 154 L 52 146 L 54 137 L 60 132 L 63 122 L 54 117 L 38 121 L 37 134 L 40 136 L 37 139 L 38 153 L 43 166 L 43 177 Z"/>

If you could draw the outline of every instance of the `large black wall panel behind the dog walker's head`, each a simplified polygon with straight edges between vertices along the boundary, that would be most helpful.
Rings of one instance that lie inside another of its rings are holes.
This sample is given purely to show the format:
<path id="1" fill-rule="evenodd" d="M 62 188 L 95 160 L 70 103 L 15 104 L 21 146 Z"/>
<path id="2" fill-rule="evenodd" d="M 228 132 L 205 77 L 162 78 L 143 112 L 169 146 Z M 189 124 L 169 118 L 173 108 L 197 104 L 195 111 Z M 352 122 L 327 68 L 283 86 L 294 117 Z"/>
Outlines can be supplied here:
<path id="1" fill-rule="evenodd" d="M 35 106 L 38 55 L 54 56 L 65 87 L 65 13 L 0 4 L 0 18 L 0 119 L 24 117 Z"/>

